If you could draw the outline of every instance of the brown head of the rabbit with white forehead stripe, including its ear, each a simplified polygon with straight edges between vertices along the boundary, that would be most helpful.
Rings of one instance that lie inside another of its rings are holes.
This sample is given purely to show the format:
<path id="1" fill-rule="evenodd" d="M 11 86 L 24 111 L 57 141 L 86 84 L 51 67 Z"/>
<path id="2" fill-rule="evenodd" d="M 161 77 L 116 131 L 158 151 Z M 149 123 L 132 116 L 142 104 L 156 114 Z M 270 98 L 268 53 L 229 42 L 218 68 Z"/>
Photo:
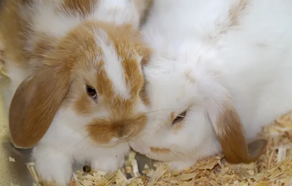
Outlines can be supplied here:
<path id="1" fill-rule="evenodd" d="M 99 145 L 135 138 L 146 124 L 142 65 L 150 50 L 129 25 L 85 22 L 62 38 L 45 33 L 31 56 L 42 64 L 10 105 L 16 147 L 31 148 L 51 125 L 69 125 Z"/>

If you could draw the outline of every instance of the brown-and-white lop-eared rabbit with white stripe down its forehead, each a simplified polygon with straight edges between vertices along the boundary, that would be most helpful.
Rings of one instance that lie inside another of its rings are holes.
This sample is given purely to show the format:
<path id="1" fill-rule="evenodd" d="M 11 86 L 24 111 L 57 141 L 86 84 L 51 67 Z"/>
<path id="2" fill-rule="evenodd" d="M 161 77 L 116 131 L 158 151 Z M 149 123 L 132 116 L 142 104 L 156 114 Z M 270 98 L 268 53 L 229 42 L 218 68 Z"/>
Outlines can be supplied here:
<path id="1" fill-rule="evenodd" d="M 146 125 L 139 26 L 147 0 L 7 0 L 0 15 L 15 147 L 42 182 L 67 186 L 73 163 L 108 173 Z"/>

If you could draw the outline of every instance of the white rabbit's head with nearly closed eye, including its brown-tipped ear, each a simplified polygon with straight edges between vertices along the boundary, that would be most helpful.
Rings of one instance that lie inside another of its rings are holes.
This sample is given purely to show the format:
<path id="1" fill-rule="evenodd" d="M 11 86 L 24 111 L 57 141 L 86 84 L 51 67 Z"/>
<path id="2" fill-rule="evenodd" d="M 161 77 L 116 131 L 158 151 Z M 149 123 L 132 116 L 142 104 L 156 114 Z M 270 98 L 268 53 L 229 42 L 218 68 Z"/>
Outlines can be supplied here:
<path id="1" fill-rule="evenodd" d="M 255 161 L 267 141 L 247 144 L 215 51 L 199 41 L 175 47 L 154 52 L 144 69 L 151 109 L 143 137 L 130 146 L 161 161 L 180 154 L 195 162 L 221 149 L 230 163 Z"/>

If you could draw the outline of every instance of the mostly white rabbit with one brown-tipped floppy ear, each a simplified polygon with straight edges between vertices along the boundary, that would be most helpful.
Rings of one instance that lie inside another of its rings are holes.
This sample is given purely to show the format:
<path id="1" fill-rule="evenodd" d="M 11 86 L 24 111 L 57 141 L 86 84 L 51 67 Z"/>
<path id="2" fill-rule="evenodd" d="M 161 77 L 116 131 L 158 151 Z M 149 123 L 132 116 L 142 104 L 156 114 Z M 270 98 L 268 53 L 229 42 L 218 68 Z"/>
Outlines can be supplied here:
<path id="1" fill-rule="evenodd" d="M 292 110 L 291 0 L 154 0 L 141 32 L 149 119 L 131 148 L 182 171 L 251 163 Z"/>

